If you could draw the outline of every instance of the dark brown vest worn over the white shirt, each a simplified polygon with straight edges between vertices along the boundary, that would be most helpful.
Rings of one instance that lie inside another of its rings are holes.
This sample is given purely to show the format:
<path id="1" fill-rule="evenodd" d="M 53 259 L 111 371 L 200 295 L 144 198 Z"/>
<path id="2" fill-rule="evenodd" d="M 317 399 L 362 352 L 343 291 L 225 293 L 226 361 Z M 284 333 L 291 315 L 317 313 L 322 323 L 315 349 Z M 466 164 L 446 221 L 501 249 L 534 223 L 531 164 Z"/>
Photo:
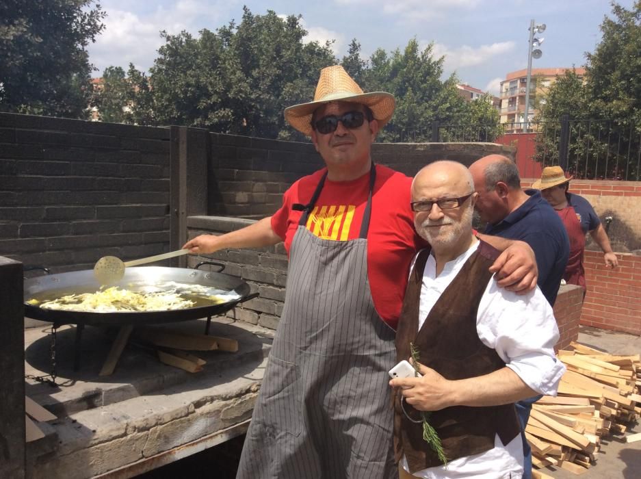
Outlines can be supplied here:
<path id="1" fill-rule="evenodd" d="M 478 250 L 465 262 L 456 278 L 445 289 L 428 318 L 419 327 L 419 302 L 423 270 L 430 255 L 422 250 L 408 281 L 403 309 L 396 332 L 397 361 L 410 357 L 410 342 L 419 350 L 419 361 L 447 379 L 482 376 L 501 369 L 505 363 L 497 352 L 485 346 L 476 331 L 476 315 L 492 274 L 488 268 L 498 251 L 480 242 Z M 422 424 L 411 422 L 401 409 L 400 392 L 394 399 L 394 452 L 396 461 L 405 454 L 410 472 L 442 465 L 423 440 Z M 419 411 L 404 402 L 413 419 Z M 480 454 L 494 448 L 495 435 L 506 445 L 519 434 L 514 404 L 489 407 L 452 406 L 430 414 L 430 424 L 441 438 L 448 461 Z"/>

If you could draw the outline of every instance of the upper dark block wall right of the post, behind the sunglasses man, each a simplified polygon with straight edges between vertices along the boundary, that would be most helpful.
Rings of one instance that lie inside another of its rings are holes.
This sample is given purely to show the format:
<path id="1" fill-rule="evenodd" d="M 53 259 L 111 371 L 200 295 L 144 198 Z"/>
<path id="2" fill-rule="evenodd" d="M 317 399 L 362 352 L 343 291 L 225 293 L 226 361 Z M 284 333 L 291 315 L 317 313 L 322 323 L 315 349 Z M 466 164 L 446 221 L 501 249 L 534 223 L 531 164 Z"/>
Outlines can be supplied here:
<path id="1" fill-rule="evenodd" d="M 297 179 L 324 166 L 313 144 L 210 133 L 208 213 L 262 218 L 274 213 Z M 376 143 L 372 159 L 410 176 L 437 159 L 471 164 L 490 153 L 514 157 L 513 146 L 488 143 Z"/>

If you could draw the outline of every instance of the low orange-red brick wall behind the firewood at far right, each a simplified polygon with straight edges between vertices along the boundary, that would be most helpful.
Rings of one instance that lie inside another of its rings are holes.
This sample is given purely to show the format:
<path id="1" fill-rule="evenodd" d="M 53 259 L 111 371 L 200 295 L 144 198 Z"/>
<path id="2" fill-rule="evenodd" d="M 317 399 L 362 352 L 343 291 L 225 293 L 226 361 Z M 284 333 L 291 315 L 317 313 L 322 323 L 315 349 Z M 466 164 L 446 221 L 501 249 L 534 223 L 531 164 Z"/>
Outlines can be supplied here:
<path id="1" fill-rule="evenodd" d="M 641 257 L 617 255 L 619 267 L 605 268 L 603 255 L 586 251 L 588 291 L 581 324 L 641 335 Z"/>

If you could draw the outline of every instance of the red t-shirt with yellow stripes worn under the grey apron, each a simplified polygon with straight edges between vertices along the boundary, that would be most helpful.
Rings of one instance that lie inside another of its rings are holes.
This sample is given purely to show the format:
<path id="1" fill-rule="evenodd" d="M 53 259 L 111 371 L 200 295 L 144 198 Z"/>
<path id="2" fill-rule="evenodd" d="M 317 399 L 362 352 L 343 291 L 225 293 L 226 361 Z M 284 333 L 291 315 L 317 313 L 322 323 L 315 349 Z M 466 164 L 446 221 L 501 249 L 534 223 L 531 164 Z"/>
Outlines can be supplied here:
<path id="1" fill-rule="evenodd" d="M 307 204 L 326 169 L 293 183 L 283 196 L 283 206 L 272 216 L 272 229 L 289 247 L 302 211 L 294 203 Z M 410 261 L 425 243 L 414 230 L 410 209 L 412 179 L 386 166 L 376 166 L 371 219 L 367 233 L 367 272 L 374 307 L 380 317 L 396 328 L 407 285 Z M 361 221 L 369 195 L 369 172 L 353 181 L 325 180 L 307 229 L 318 237 L 345 241 L 361 233 Z"/>

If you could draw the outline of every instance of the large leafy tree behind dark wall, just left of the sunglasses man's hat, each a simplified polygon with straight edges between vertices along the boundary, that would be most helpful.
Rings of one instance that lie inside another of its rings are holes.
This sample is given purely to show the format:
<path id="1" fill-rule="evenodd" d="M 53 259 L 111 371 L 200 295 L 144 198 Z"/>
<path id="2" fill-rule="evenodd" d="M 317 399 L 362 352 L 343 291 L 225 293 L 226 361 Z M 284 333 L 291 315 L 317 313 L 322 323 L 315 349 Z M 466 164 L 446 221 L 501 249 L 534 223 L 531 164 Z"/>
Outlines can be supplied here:
<path id="1" fill-rule="evenodd" d="M 331 44 L 304 43 L 300 16 L 254 15 L 198 38 L 170 36 L 151 68 L 161 124 L 221 133 L 302 139 L 285 125 L 283 109 L 309 101 L 318 72 L 335 63 Z"/>

